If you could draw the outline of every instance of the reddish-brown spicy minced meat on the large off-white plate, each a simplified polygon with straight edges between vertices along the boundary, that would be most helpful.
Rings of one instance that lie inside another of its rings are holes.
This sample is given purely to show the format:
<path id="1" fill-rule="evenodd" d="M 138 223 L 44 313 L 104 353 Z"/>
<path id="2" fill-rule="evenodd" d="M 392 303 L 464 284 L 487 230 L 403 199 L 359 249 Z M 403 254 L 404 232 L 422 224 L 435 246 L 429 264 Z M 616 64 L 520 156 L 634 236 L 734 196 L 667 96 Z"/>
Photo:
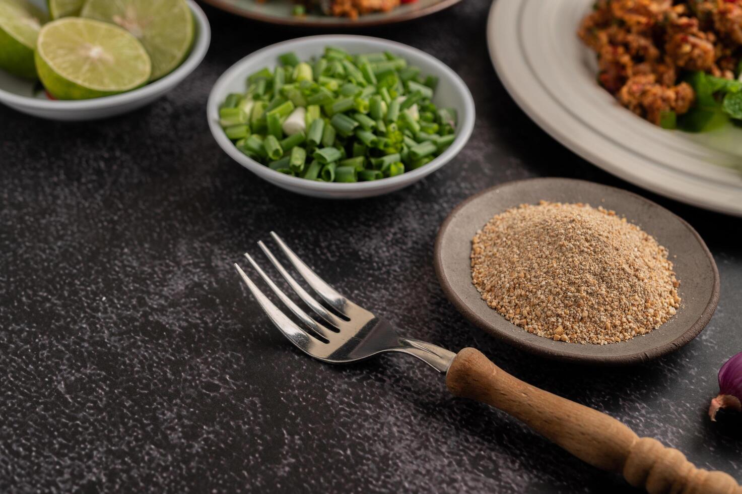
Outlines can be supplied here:
<path id="1" fill-rule="evenodd" d="M 721 105 L 720 88 L 738 88 L 742 0 L 597 0 L 578 34 L 600 84 L 651 123 L 672 128 L 699 97 Z"/>

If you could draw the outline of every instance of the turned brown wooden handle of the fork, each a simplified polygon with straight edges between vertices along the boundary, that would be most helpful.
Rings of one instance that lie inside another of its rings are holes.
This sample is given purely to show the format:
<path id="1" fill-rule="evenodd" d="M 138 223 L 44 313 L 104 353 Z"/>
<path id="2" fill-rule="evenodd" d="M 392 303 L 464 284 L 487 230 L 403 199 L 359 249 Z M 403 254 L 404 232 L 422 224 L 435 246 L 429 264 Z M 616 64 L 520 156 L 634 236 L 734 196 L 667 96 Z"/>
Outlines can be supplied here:
<path id="1" fill-rule="evenodd" d="M 640 438 L 604 413 L 526 384 L 475 348 L 456 355 L 446 384 L 456 396 L 507 412 L 582 461 L 623 473 L 629 484 L 651 494 L 742 494 L 731 475 L 696 468 L 677 449 Z"/>

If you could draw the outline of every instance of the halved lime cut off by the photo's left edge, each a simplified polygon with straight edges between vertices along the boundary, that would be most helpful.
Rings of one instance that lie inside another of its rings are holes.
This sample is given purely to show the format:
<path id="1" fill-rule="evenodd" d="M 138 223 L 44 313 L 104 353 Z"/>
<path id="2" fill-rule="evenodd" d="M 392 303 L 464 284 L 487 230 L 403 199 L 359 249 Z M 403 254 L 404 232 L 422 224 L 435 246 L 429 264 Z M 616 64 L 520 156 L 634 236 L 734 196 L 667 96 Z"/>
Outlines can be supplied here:
<path id="1" fill-rule="evenodd" d="M 45 13 L 27 0 L 0 0 L 0 68 L 36 79 L 33 48 L 46 21 Z"/>

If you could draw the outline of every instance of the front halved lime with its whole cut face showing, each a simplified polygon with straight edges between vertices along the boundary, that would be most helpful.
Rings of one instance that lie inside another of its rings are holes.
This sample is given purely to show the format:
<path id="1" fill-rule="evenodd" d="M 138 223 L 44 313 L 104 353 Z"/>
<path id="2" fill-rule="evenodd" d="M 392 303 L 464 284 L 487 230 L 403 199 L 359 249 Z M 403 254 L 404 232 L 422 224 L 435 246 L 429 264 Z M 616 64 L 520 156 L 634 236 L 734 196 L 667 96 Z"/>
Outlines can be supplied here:
<path id="1" fill-rule="evenodd" d="M 36 69 L 59 100 L 110 96 L 144 85 L 152 64 L 137 38 L 121 27 L 65 17 L 42 27 Z"/>

